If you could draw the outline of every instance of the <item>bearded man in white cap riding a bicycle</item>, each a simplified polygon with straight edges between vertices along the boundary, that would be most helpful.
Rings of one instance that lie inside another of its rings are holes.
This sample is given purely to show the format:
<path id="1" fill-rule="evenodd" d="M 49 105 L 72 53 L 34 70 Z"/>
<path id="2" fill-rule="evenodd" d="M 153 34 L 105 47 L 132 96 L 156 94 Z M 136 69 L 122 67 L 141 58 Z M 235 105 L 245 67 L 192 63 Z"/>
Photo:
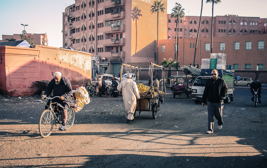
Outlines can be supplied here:
<path id="1" fill-rule="evenodd" d="M 66 129 L 65 124 L 67 121 L 68 109 L 71 104 L 72 89 L 71 89 L 70 81 L 64 78 L 63 76 L 61 76 L 60 72 L 54 73 L 54 79 L 52 79 L 47 85 L 47 88 L 45 89 L 45 93 L 44 95 L 42 95 L 42 98 L 44 98 L 44 96 L 50 95 L 52 92 L 53 92 L 52 97 L 55 97 L 55 96 L 60 97 L 60 98 L 52 99 L 52 102 L 56 102 L 58 105 L 59 111 L 61 111 L 60 121 L 62 123 L 61 123 L 61 126 L 59 127 L 59 130 L 64 131 Z M 50 101 L 51 100 L 47 102 L 45 109 L 48 108 Z M 53 108 L 55 108 L 55 106 Z"/>

